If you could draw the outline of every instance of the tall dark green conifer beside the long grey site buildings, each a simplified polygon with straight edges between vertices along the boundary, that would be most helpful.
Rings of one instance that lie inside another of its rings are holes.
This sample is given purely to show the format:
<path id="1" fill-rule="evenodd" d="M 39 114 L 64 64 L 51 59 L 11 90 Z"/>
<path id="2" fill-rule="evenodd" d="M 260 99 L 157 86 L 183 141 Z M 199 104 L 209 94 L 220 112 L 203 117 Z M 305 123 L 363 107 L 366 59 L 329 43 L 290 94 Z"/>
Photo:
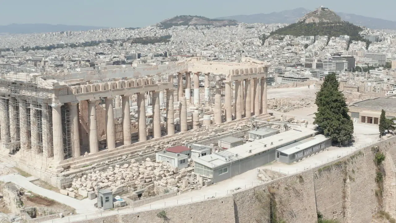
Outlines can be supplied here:
<path id="1" fill-rule="evenodd" d="M 338 90 L 335 73 L 327 75 L 324 79 L 320 91 L 316 94 L 315 104 L 318 111 L 315 113 L 314 124 L 319 131 L 338 144 L 352 139 L 353 122 L 348 115 L 344 95 Z"/>

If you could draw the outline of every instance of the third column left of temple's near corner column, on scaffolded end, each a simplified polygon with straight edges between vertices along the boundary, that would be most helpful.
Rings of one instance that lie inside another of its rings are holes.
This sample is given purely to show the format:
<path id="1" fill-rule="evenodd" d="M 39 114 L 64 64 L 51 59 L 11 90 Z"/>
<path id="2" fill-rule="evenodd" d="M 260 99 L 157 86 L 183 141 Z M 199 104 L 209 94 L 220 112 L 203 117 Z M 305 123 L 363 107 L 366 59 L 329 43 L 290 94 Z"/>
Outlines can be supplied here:
<path id="1" fill-rule="evenodd" d="M 19 140 L 21 142 L 21 150 L 30 149 L 28 127 L 27 102 L 26 100 L 19 99 Z M 52 150 L 50 155 L 53 156 Z"/>

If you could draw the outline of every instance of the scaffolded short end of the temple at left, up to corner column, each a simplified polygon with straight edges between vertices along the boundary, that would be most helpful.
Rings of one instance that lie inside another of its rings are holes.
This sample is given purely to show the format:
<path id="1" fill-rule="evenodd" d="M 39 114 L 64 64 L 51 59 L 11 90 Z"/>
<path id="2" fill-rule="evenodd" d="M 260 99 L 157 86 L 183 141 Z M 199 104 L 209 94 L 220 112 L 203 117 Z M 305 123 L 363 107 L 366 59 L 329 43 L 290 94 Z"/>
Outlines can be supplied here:
<path id="1" fill-rule="evenodd" d="M 29 74 L 1 75 L 0 144 L 13 155 L 24 148 L 34 154 L 53 156 L 51 89 L 41 87 Z M 11 78 L 10 78 L 11 77 Z"/>

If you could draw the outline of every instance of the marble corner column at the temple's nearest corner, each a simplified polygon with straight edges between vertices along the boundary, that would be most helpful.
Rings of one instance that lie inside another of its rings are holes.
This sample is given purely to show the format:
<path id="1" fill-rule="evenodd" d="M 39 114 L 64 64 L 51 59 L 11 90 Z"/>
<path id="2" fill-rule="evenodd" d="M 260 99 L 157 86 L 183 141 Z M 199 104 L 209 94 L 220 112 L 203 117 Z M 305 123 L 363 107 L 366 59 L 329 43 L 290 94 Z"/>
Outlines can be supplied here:
<path id="1" fill-rule="evenodd" d="M 52 142 L 55 161 L 65 160 L 63 151 L 62 104 L 52 104 Z"/>

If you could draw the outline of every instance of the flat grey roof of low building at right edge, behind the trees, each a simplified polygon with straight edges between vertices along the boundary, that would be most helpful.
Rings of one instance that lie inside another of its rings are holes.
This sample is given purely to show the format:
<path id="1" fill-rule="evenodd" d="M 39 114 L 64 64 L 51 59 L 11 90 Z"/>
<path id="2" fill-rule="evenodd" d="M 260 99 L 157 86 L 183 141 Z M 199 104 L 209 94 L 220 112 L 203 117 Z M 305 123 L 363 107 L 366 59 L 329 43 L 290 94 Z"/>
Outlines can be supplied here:
<path id="1" fill-rule="evenodd" d="M 356 102 L 350 106 L 377 111 L 381 111 L 381 109 L 383 109 L 386 112 L 396 112 L 396 98 L 371 98 Z"/>

